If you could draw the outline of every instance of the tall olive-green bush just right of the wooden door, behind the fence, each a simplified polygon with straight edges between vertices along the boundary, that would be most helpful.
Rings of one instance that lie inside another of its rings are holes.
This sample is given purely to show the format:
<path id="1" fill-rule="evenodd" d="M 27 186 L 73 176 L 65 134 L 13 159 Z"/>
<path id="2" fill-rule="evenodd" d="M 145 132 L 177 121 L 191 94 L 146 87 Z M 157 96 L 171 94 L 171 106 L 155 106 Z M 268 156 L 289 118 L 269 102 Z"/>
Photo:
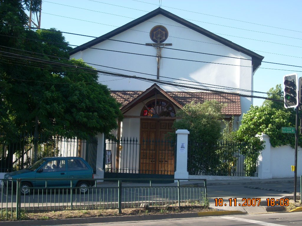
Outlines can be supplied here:
<path id="1" fill-rule="evenodd" d="M 221 155 L 217 154 L 217 141 L 221 137 L 219 119 L 224 104 L 216 100 L 186 104 L 174 122 L 175 129 L 190 132 L 188 144 L 188 171 L 192 175 L 217 175 L 221 172 Z"/>

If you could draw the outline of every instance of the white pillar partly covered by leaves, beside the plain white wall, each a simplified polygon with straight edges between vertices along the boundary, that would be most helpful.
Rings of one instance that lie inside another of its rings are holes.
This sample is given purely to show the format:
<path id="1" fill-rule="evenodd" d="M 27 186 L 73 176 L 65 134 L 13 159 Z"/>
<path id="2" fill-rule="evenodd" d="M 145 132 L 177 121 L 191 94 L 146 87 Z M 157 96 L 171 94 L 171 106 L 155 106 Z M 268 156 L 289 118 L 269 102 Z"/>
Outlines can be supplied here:
<path id="1" fill-rule="evenodd" d="M 265 142 L 265 148 L 260 151 L 258 157 L 258 177 L 259 179 L 270 179 L 273 178 L 271 174 L 271 143 L 269 137 L 266 134 L 256 135 L 260 140 Z"/>

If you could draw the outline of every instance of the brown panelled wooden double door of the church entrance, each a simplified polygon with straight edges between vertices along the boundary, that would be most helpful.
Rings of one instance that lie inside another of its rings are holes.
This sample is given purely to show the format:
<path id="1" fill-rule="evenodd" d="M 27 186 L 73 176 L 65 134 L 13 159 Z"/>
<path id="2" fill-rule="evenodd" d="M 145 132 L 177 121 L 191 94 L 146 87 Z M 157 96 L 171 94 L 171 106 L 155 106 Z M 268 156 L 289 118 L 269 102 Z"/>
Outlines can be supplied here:
<path id="1" fill-rule="evenodd" d="M 140 173 L 174 175 L 175 143 L 167 139 L 174 120 L 141 119 Z"/>

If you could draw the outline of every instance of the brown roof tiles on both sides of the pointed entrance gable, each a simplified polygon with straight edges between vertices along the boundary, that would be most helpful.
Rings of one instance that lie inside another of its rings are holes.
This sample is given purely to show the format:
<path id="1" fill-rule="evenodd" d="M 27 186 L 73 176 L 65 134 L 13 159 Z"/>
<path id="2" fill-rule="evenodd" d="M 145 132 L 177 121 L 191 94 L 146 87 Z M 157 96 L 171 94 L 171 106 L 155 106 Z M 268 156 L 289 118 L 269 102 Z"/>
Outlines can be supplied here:
<path id="1" fill-rule="evenodd" d="M 111 91 L 113 96 L 122 107 L 131 100 L 142 94 L 144 91 Z M 194 101 L 195 103 L 203 103 L 205 100 L 217 100 L 220 103 L 226 103 L 223 108 L 223 115 L 241 115 L 240 96 L 226 93 L 207 93 L 207 92 L 166 92 L 175 101 L 181 105 L 185 105 Z"/>

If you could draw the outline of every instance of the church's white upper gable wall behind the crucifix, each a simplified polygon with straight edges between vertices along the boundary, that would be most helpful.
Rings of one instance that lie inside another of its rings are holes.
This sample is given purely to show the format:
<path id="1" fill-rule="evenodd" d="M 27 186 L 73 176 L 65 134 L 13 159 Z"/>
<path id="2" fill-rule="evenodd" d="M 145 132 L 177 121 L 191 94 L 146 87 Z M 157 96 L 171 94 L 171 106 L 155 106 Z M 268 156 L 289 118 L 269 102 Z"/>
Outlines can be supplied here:
<path id="1" fill-rule="evenodd" d="M 157 15 L 149 19 L 149 21 L 152 22 L 142 22 L 141 24 L 138 24 L 130 30 L 126 30 L 111 38 L 121 41 L 141 43 L 143 45 L 106 40 L 93 46 L 93 48 L 108 49 L 120 52 L 86 49 L 82 52 L 71 55 L 71 58 L 81 57 L 87 63 L 137 71 L 152 74 L 154 76 L 92 65 L 98 70 L 156 79 L 157 61 L 156 57 L 152 57 L 156 55 L 156 48 L 152 46 L 146 46 L 145 44 L 153 43 L 149 37 L 149 31 L 156 25 L 163 25 L 169 31 L 169 37 L 164 43 L 172 43 L 172 46 L 167 46 L 167 49 L 162 49 L 162 57 L 180 58 L 193 61 L 161 58 L 159 72 L 160 76 L 173 78 L 172 81 L 178 83 L 182 83 L 182 81 L 176 79 L 187 80 L 188 83 L 191 81 L 235 88 L 234 90 L 227 90 L 229 92 L 238 92 L 236 89 L 239 88 L 247 90 L 252 89 L 252 61 L 250 61 L 251 57 L 227 46 L 224 46 L 223 44 L 216 42 L 213 39 L 210 39 L 207 36 L 204 36 L 194 30 L 188 29 L 163 15 Z M 230 57 L 240 57 L 242 59 L 169 50 L 169 48 L 204 52 Z M 152 56 L 133 55 L 121 52 L 132 52 Z M 213 62 L 215 64 L 194 61 L 206 61 Z M 226 64 L 241 65 L 241 67 Z M 171 79 L 163 77 L 161 77 L 160 80 L 171 81 Z M 105 75 L 100 75 L 99 81 L 105 85 L 108 85 L 108 87 L 112 90 L 145 90 L 149 88 L 152 83 L 154 83 L 136 80 L 133 78 L 122 79 L 120 77 Z M 161 88 L 165 91 L 196 91 L 163 86 L 160 84 L 159 86 L 161 86 Z M 240 93 L 244 92 L 240 91 Z M 252 102 L 250 98 L 241 98 L 243 113 L 249 109 L 251 103 Z"/>

